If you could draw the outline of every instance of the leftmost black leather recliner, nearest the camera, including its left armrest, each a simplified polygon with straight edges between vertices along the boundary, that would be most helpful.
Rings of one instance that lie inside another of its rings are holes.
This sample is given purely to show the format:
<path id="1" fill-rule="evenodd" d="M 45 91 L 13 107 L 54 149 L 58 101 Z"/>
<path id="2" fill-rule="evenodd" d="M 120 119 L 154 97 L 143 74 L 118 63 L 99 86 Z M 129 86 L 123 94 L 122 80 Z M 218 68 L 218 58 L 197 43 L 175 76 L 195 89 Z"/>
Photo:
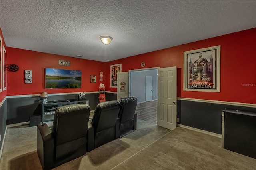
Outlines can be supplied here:
<path id="1" fill-rule="evenodd" d="M 56 108 L 52 131 L 47 124 L 37 126 L 37 153 L 44 170 L 52 169 L 86 154 L 88 104 Z"/>

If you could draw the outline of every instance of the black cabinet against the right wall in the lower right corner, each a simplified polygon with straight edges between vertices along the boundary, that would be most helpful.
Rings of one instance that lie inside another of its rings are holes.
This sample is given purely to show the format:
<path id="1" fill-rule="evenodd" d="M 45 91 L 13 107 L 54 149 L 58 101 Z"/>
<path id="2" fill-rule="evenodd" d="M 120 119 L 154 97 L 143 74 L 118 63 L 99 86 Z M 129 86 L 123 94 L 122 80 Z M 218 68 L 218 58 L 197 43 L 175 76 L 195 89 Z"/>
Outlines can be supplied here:
<path id="1" fill-rule="evenodd" d="M 256 158 L 256 112 L 222 111 L 222 148 Z"/>

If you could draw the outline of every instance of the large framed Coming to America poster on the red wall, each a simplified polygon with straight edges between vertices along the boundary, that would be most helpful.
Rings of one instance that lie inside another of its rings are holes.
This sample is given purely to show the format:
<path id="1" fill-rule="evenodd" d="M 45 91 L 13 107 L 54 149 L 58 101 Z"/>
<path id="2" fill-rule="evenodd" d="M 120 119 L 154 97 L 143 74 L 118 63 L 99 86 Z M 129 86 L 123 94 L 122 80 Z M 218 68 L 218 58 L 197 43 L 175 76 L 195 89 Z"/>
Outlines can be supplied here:
<path id="1" fill-rule="evenodd" d="M 220 92 L 220 46 L 184 52 L 183 90 Z"/>

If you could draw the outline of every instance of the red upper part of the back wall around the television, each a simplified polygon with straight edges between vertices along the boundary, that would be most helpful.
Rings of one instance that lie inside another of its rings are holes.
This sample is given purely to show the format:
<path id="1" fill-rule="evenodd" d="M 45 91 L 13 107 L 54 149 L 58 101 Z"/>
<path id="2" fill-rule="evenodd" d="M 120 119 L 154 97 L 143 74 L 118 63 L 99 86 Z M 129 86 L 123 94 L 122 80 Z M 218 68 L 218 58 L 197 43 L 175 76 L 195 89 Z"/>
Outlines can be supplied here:
<path id="1" fill-rule="evenodd" d="M 6 48 L 7 67 L 16 64 L 19 70 L 7 72 L 7 95 L 40 94 L 41 92 L 71 93 L 71 92 L 94 92 L 98 91 L 100 83 L 100 72 L 104 72 L 105 63 L 85 60 L 74 57 L 60 56 L 43 52 L 22 50 L 18 48 Z M 68 60 L 70 66 L 58 65 L 58 60 Z M 72 89 L 45 89 L 45 68 L 58 68 L 64 70 L 82 71 L 82 88 Z M 32 70 L 32 84 L 25 84 L 24 70 Z M 90 83 L 90 75 L 96 75 L 96 83 Z"/>

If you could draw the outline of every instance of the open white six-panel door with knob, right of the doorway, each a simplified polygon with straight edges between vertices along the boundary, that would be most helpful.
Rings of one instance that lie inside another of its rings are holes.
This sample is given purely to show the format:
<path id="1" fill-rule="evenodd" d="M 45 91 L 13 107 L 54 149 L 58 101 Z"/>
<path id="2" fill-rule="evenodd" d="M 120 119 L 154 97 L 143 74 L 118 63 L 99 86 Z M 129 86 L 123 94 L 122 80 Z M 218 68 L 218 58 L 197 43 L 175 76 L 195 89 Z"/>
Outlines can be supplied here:
<path id="1" fill-rule="evenodd" d="M 158 69 L 157 125 L 173 130 L 177 117 L 177 68 Z"/>

